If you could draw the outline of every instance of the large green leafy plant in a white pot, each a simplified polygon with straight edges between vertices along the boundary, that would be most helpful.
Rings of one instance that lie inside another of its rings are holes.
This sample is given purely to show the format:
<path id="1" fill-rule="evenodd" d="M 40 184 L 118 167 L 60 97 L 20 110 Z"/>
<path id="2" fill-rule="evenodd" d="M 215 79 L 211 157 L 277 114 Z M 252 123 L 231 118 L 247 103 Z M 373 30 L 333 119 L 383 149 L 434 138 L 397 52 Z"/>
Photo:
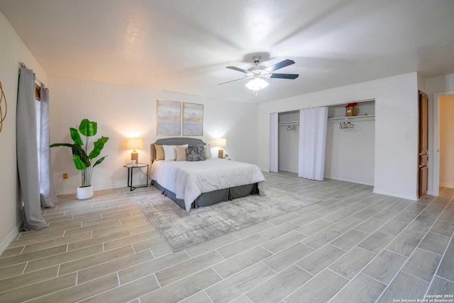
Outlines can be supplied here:
<path id="1" fill-rule="evenodd" d="M 74 144 L 71 143 L 54 143 L 50 147 L 71 147 L 72 149 L 72 161 L 76 169 L 82 172 L 82 186 L 77 188 L 77 199 L 85 200 L 93 197 L 93 186 L 92 186 L 92 173 L 94 166 L 101 164 L 106 156 L 99 158 L 92 165 L 94 158 L 101 154 L 101 150 L 104 148 L 109 137 L 101 137 L 94 142 L 94 147 L 89 154 L 87 154 L 88 149 L 88 138 L 96 135 L 98 125 L 94 121 L 88 119 L 82 120 L 79 125 L 79 130 L 74 127 L 70 127 L 71 138 L 74 141 Z M 84 142 L 80 137 L 80 134 L 86 137 L 85 139 L 85 148 Z"/>

